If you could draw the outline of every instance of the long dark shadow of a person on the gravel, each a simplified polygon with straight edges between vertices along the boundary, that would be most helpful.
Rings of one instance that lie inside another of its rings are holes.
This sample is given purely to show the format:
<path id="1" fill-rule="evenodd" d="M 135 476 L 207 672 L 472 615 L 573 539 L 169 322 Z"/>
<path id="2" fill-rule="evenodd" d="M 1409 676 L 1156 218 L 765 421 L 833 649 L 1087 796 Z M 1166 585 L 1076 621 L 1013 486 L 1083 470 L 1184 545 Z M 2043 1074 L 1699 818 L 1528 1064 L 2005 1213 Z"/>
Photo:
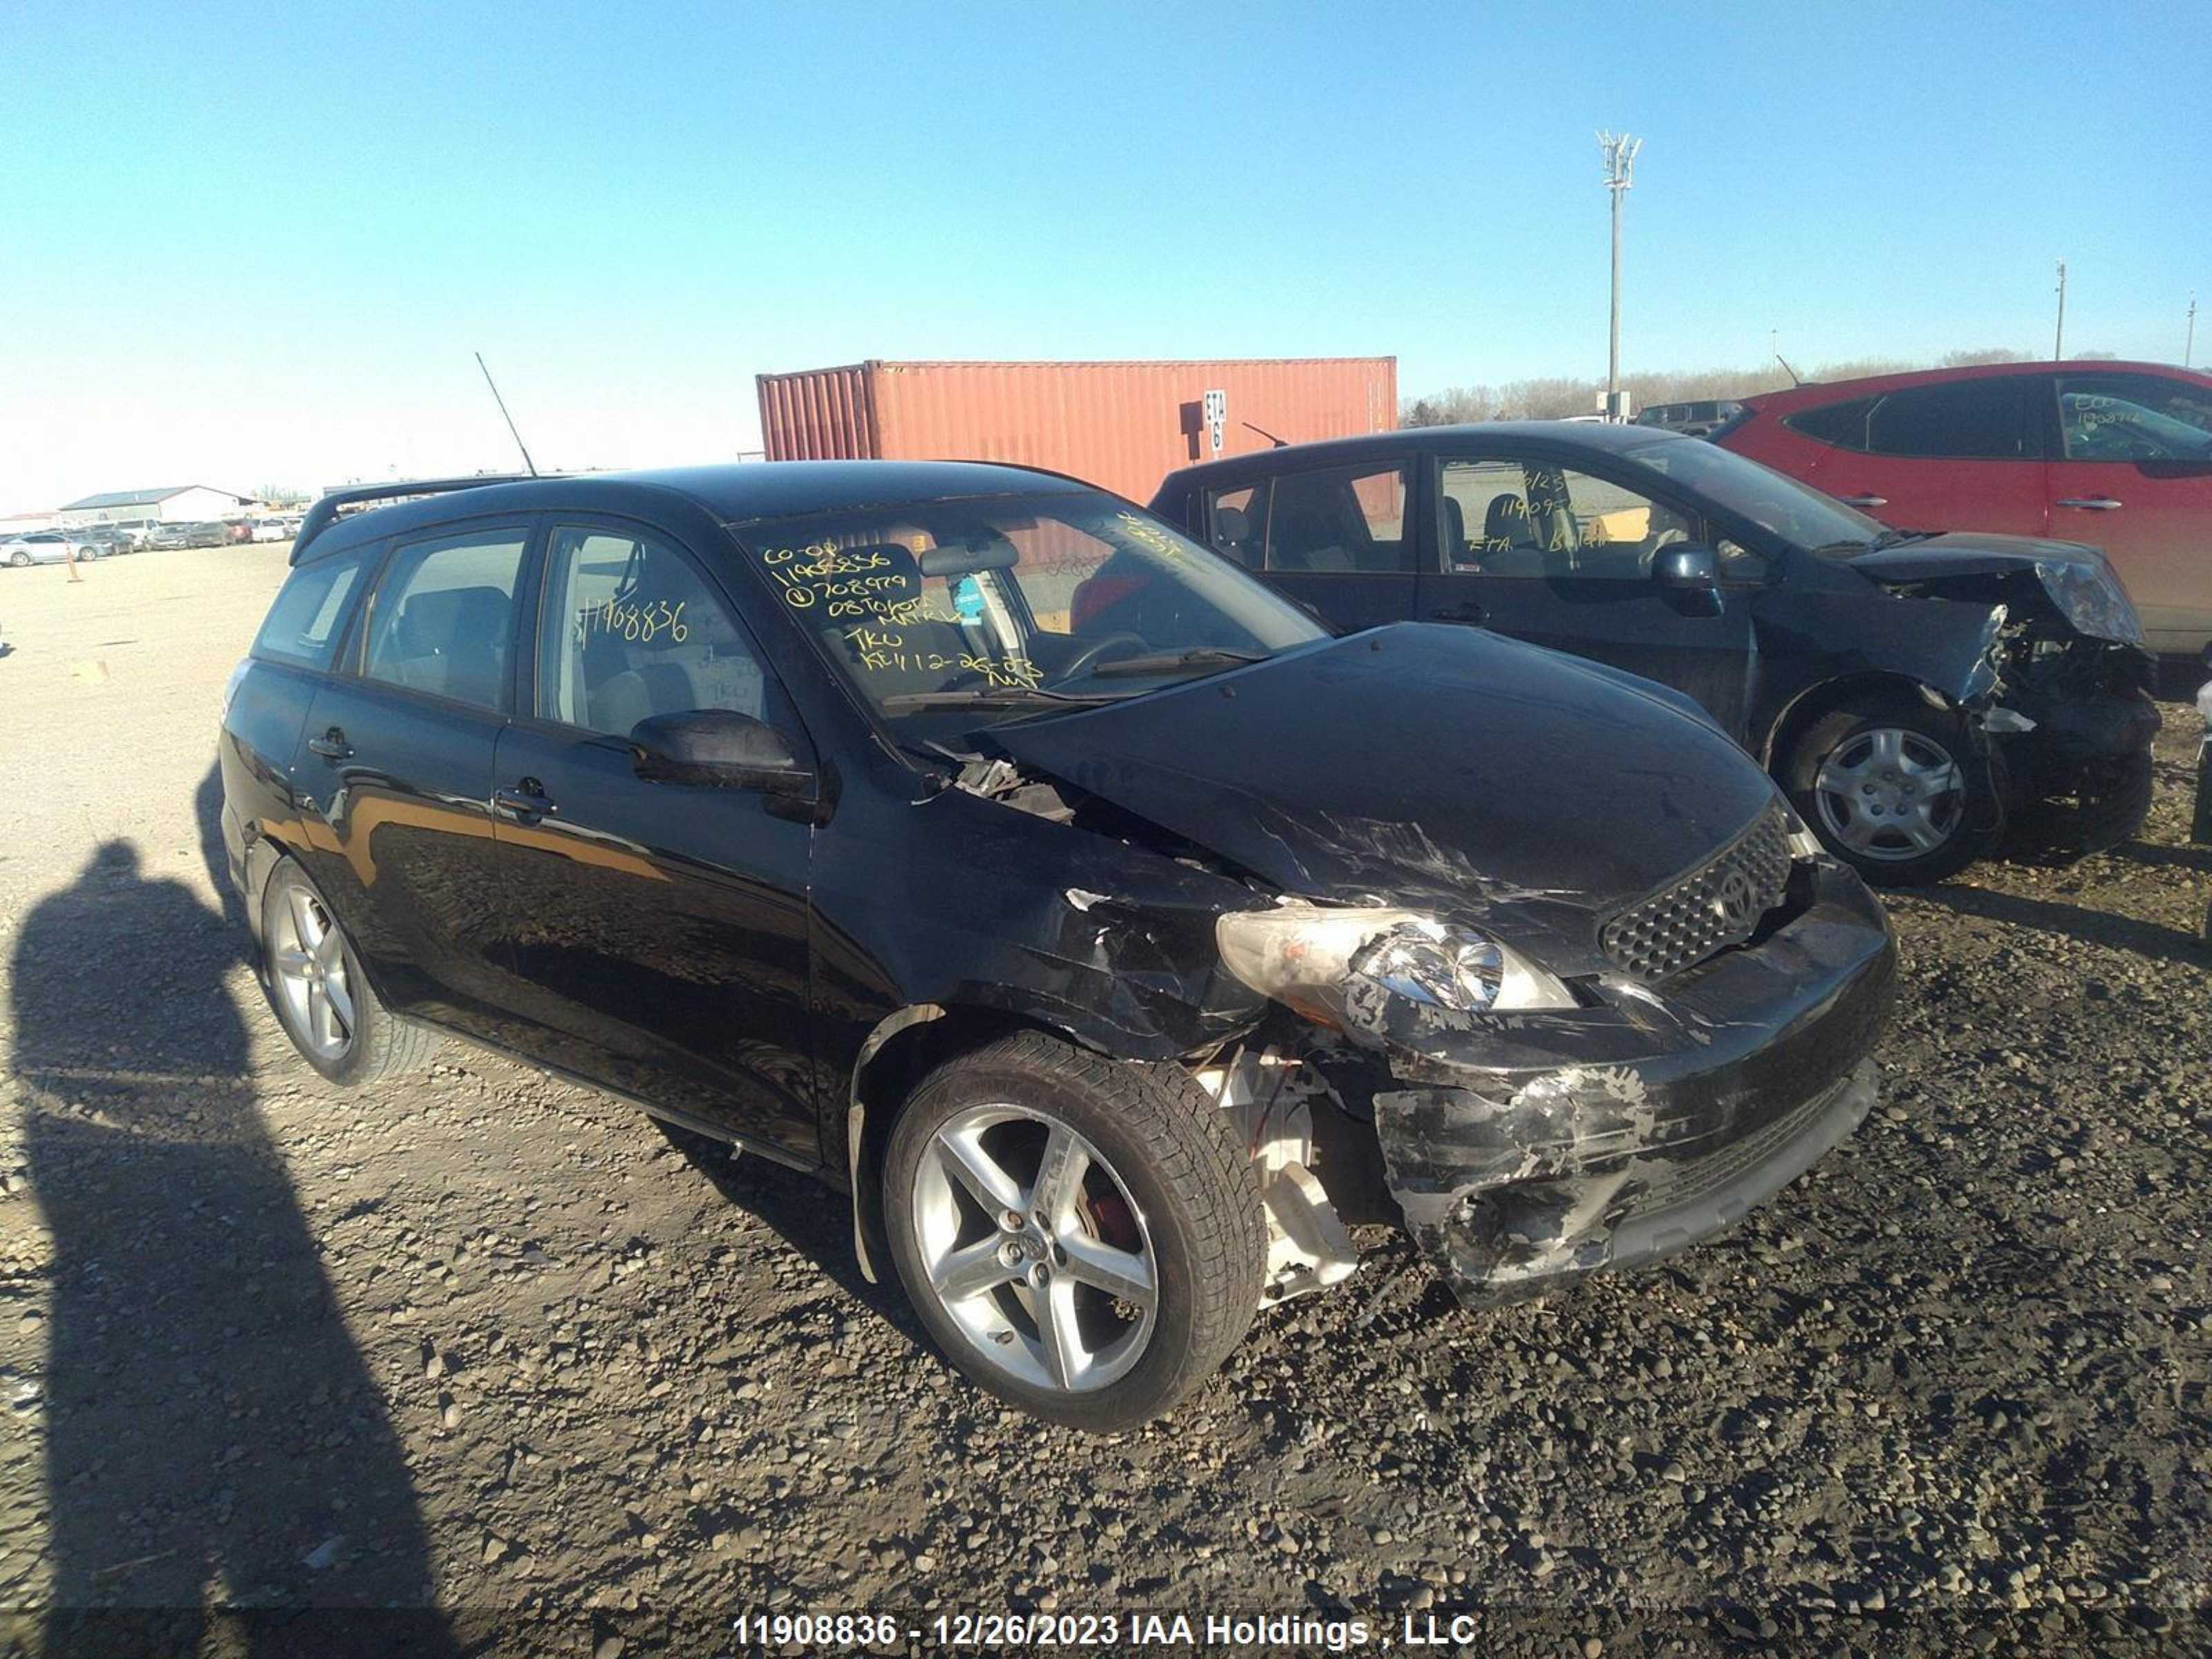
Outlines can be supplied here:
<path id="1" fill-rule="evenodd" d="M 44 1650 L 451 1652 L 405 1451 L 254 1095 L 243 945 L 128 841 L 18 936 L 53 1234 Z"/>

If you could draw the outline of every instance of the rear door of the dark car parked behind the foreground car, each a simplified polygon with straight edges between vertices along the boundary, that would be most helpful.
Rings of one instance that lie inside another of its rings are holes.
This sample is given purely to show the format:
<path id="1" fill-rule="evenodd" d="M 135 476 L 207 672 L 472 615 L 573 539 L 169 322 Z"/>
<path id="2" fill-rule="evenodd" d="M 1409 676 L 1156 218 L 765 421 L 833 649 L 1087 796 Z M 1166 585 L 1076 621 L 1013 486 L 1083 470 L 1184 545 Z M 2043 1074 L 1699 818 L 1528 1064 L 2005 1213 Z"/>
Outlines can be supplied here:
<path id="1" fill-rule="evenodd" d="M 1411 456 L 1199 487 L 1199 533 L 1332 628 L 1413 615 L 1418 469 Z"/>

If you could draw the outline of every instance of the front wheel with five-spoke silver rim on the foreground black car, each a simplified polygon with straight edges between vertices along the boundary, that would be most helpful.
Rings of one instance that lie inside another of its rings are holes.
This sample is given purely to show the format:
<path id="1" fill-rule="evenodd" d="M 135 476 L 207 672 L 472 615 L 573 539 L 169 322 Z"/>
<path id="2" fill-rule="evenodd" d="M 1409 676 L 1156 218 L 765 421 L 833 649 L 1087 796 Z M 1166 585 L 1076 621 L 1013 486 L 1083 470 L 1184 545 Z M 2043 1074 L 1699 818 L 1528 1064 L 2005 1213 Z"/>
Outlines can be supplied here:
<path id="1" fill-rule="evenodd" d="M 1259 1179 L 1172 1068 L 1015 1033 L 929 1073 L 883 1164 L 891 1261 L 929 1334 L 1051 1422 L 1157 1418 L 1259 1307 Z"/>

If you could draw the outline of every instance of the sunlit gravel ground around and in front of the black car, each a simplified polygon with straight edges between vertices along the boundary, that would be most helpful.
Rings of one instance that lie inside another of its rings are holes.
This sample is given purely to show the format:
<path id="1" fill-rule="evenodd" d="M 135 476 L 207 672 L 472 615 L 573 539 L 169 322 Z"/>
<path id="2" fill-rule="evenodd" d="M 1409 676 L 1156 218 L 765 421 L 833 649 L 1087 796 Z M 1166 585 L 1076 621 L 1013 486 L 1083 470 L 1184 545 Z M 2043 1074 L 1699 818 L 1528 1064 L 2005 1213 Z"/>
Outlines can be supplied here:
<path id="1" fill-rule="evenodd" d="M 1172 1420 L 1084 1440 L 964 1387 L 799 1177 L 458 1044 L 369 1095 L 292 1060 L 208 841 L 217 692 L 281 573 L 0 571 L 0 1652 L 608 1659 L 737 1650 L 748 1610 L 1009 1608 L 2203 1646 L 2181 706 L 2141 843 L 1896 902 L 1882 1106 L 1739 1232 L 1486 1316 L 1376 1232 Z M 252 1613 L 358 1606 L 418 1613 Z"/>

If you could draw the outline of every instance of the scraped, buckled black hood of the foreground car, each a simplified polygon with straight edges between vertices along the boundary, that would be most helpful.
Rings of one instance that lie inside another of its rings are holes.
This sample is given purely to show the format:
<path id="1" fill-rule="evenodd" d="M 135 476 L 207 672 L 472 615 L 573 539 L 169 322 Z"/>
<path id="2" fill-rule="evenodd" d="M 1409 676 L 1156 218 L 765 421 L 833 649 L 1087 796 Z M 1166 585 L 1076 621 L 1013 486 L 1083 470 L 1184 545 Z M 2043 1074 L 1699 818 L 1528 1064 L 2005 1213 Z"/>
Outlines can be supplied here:
<path id="1" fill-rule="evenodd" d="M 1546 940 L 1719 852 L 1774 785 L 1674 692 L 1473 628 L 1396 624 L 984 741 L 1283 894 Z M 1562 949 L 1564 947 L 1564 949 Z"/>

